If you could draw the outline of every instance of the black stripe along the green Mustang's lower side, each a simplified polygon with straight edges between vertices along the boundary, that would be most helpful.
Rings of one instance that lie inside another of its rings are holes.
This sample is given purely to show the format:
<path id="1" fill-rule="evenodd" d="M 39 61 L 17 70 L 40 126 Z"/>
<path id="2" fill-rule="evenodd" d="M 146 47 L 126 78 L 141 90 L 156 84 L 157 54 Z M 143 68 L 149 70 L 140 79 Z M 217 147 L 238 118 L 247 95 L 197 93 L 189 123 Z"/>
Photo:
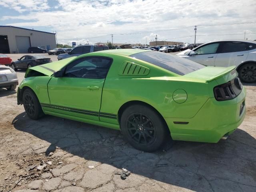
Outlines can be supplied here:
<path id="1" fill-rule="evenodd" d="M 63 111 L 68 111 L 68 112 L 74 112 L 74 113 L 80 113 L 80 114 L 85 114 L 85 115 L 91 115 L 91 116 L 99 116 L 99 113 L 96 112 L 96 111 L 89 111 L 89 110 L 82 110 L 82 109 L 76 109 L 76 108 L 70 108 L 70 107 L 63 107 L 63 106 L 58 106 L 58 105 L 46 104 L 46 103 L 40 103 L 40 104 L 41 104 L 42 107 L 46 107 L 46 108 L 53 108 L 53 109 L 58 109 L 58 110 L 63 110 Z M 100 112 L 100 117 L 117 119 L 116 114 L 103 113 L 103 112 Z"/>

